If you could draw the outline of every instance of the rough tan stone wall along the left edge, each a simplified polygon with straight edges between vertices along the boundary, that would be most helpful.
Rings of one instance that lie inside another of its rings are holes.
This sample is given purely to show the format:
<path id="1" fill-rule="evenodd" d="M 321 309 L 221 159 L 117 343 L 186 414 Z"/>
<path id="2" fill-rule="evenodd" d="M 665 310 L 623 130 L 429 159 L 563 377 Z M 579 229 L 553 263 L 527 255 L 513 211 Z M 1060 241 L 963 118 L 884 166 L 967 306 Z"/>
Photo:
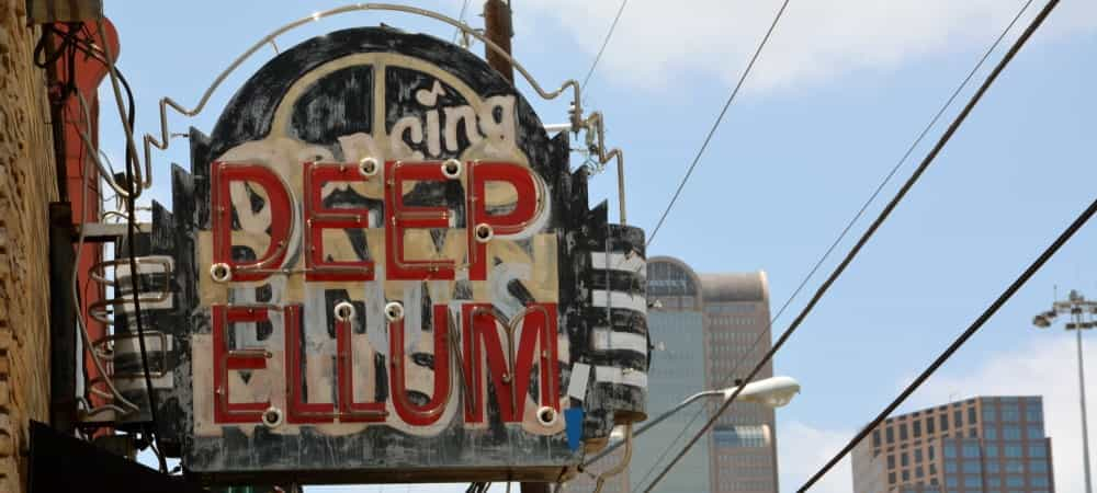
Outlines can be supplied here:
<path id="1" fill-rule="evenodd" d="M 0 492 L 26 488 L 30 420 L 48 422 L 48 208 L 57 175 L 37 28 L 0 0 Z"/>

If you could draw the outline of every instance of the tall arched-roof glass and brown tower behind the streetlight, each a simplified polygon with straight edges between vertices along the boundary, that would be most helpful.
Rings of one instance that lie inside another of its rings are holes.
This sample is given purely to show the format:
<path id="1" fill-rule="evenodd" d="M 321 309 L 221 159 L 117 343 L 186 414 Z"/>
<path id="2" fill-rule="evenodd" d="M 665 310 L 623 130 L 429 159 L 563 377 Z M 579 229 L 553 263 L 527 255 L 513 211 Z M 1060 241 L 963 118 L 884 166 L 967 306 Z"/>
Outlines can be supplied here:
<path id="1" fill-rule="evenodd" d="M 656 256 L 647 260 L 647 331 L 652 362 L 647 374 L 647 412 L 656 417 L 690 395 L 735 385 L 770 348 L 769 288 L 762 272 L 698 275 L 686 263 Z M 760 340 L 759 340 L 760 337 Z M 755 341 L 758 345 L 751 349 Z M 738 366 L 739 375 L 732 375 Z M 773 376 L 767 365 L 758 378 Z M 695 433 L 704 420 L 697 410 L 715 410 L 717 402 L 697 403 L 635 439 L 629 469 L 606 482 L 603 493 L 636 491 L 686 445 L 682 428 Z M 706 412 L 702 417 L 711 416 Z M 692 421 L 692 423 L 691 423 Z M 706 447 L 694 447 L 659 483 L 658 491 L 776 493 L 777 457 L 773 410 L 735 403 L 709 434 Z M 663 456 L 668 450 L 667 456 Z M 592 475 L 621 460 L 622 449 L 565 485 L 588 493 Z"/>

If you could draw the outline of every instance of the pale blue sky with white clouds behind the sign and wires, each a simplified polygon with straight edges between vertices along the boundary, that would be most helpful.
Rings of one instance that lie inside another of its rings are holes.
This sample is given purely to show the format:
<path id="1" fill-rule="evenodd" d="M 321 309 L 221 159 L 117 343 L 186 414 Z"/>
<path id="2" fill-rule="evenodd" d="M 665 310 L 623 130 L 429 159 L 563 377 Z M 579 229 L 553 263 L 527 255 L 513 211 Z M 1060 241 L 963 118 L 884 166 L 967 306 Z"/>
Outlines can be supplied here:
<path id="1" fill-rule="evenodd" d="M 160 98 L 192 106 L 261 36 L 340 4 L 105 3 L 121 32 L 118 66 L 137 94 L 140 134 L 158 129 Z M 470 10 L 478 10 L 479 2 L 472 3 Z M 651 233 L 779 3 L 629 2 L 587 87 L 586 104 L 604 113 L 609 144 L 627 157 L 631 223 Z M 776 312 L 1024 3 L 792 0 L 648 256 L 672 255 L 698 272 L 764 270 Z M 451 16 L 461 10 L 457 0 L 415 4 Z M 513 0 L 514 55 L 546 88 L 581 80 L 619 5 L 617 0 Z M 1034 1 L 1021 24 L 1041 7 Z M 468 21 L 482 25 L 478 15 Z M 437 22 L 371 12 L 308 24 L 278 44 L 284 48 L 328 31 L 381 22 L 453 35 Z M 1006 44 L 1019 32 L 1015 27 Z M 479 53 L 483 46 L 472 49 Z M 1095 53 L 1097 4 L 1064 0 L 778 353 L 776 372 L 803 386 L 777 414 L 782 492 L 795 491 L 880 412 L 1094 199 Z M 171 114 L 172 131 L 190 125 L 210 130 L 236 88 L 273 55 L 264 48 L 246 61 L 196 117 Z M 535 101 L 527 83 L 519 88 L 543 121 L 566 121 L 565 101 Z M 947 112 L 882 197 L 894 194 L 958 110 Z M 114 116 L 104 104 L 102 147 L 118 157 L 123 138 Z M 151 196 L 166 204 L 170 162 L 189 162 L 185 141 L 154 152 Z M 592 200 L 617 199 L 614 175 L 593 179 Z M 788 326 L 883 203 L 870 206 L 819 277 L 791 301 L 774 332 Z M 615 215 L 615 207 L 610 209 Z M 1056 486 L 1082 491 L 1074 339 L 1062 325 L 1038 331 L 1030 321 L 1050 307 L 1056 289 L 1060 298 L 1070 289 L 1097 297 L 1095 254 L 1097 225 L 1090 225 L 901 411 L 977 394 L 1043 395 Z M 1097 406 L 1094 347 L 1097 341 L 1089 336 L 1090 409 Z M 1090 432 L 1090 438 L 1097 434 Z M 309 489 L 408 490 L 463 486 Z M 813 491 L 851 491 L 848 463 Z"/>

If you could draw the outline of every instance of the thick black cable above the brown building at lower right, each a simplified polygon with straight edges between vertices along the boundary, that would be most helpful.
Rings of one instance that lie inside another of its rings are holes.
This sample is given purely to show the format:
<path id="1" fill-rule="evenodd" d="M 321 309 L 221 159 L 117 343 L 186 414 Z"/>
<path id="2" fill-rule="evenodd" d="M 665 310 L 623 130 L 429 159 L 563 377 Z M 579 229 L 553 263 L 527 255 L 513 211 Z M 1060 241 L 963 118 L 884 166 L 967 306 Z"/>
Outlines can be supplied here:
<path id="1" fill-rule="evenodd" d="M 1058 0 L 1053 0 L 1052 3 Z M 864 439 L 864 437 L 868 436 L 870 433 L 872 433 L 872 431 L 877 426 L 879 426 L 880 423 L 886 420 L 887 415 L 890 415 L 893 411 L 895 411 L 896 408 L 903 404 L 903 402 L 906 401 L 906 399 L 911 397 L 911 394 L 914 393 L 914 391 L 917 390 L 918 387 L 920 387 L 921 383 L 926 381 L 926 379 L 928 379 L 935 371 L 937 371 L 938 368 L 941 367 L 941 365 L 945 364 L 946 360 L 948 360 L 948 358 L 950 358 L 953 354 L 955 354 L 958 349 L 960 349 L 960 346 L 966 343 L 972 335 L 975 335 L 975 332 L 977 332 L 986 323 L 986 321 L 991 319 L 991 317 L 994 317 L 994 314 L 998 311 L 998 309 L 1000 309 L 1002 306 L 1006 303 L 1006 301 L 1009 301 L 1009 298 L 1011 298 L 1014 294 L 1016 294 L 1017 290 L 1020 289 L 1021 286 L 1024 286 L 1025 283 L 1027 283 L 1029 278 L 1031 278 L 1032 275 L 1036 274 L 1037 271 L 1039 271 L 1040 267 L 1042 267 L 1043 264 L 1047 263 L 1048 260 L 1050 260 L 1052 255 L 1054 255 L 1055 252 L 1058 252 L 1059 249 L 1063 246 L 1063 244 L 1065 244 L 1066 241 L 1071 239 L 1071 237 L 1074 236 L 1074 233 L 1076 233 L 1079 229 L 1082 229 L 1082 227 L 1086 223 L 1086 221 L 1088 221 L 1094 216 L 1095 213 L 1097 213 L 1097 200 L 1094 200 L 1092 204 L 1089 204 L 1089 208 L 1087 208 L 1085 211 L 1082 213 L 1081 216 L 1074 219 L 1074 222 L 1072 222 L 1071 226 L 1068 226 L 1066 230 L 1064 230 L 1059 236 L 1059 238 L 1056 238 L 1055 241 L 1050 246 L 1048 246 L 1048 249 L 1044 250 L 1043 253 L 1041 253 L 1040 256 L 1037 257 L 1037 260 L 1032 262 L 1032 264 L 1030 264 L 1028 268 L 1026 268 L 1025 272 L 1021 273 L 1021 275 L 1017 277 L 1017 279 L 1014 280 L 1013 284 L 1010 284 L 1009 287 L 1007 287 L 1006 290 L 1003 291 L 1002 295 L 999 295 L 998 298 L 995 299 L 994 302 L 992 302 L 991 306 L 987 307 L 986 310 L 983 311 L 983 313 L 980 314 L 977 319 L 975 319 L 974 322 L 972 322 L 971 325 L 968 326 L 968 329 L 962 334 L 960 334 L 959 337 L 953 340 L 952 344 L 950 344 L 949 347 L 946 348 L 943 353 L 937 356 L 937 359 L 934 359 L 934 363 L 930 364 L 925 370 L 923 370 L 921 375 L 918 375 L 918 378 L 915 378 L 914 381 L 911 382 L 911 385 L 908 385 L 905 389 L 903 389 L 903 392 L 901 392 L 898 397 L 895 398 L 895 400 L 893 400 L 890 404 L 887 404 L 887 406 L 884 408 L 883 411 L 881 411 L 880 414 L 878 414 L 877 417 L 873 419 L 868 426 L 862 428 L 857 434 L 857 436 L 853 437 L 853 439 L 849 440 L 849 443 L 846 444 L 846 446 L 842 447 L 842 449 L 836 456 L 830 458 L 830 460 L 827 461 L 825 466 L 823 466 L 823 469 L 819 469 L 818 472 L 812 475 L 812 478 L 808 479 L 803 486 L 800 486 L 800 490 L 798 491 L 799 492 L 807 491 L 807 489 L 814 485 L 819 479 L 822 479 L 823 475 L 827 473 L 827 471 L 833 469 L 835 465 L 837 465 L 838 461 L 842 459 L 842 457 L 849 454 L 849 451 L 852 450 L 858 443 Z"/>

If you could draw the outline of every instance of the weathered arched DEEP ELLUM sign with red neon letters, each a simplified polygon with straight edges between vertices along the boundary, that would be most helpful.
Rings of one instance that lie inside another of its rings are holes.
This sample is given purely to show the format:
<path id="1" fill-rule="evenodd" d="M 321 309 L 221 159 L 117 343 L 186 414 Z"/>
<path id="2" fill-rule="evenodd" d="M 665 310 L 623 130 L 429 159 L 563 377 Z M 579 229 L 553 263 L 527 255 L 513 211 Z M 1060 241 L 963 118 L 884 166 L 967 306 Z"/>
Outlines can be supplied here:
<path id="1" fill-rule="evenodd" d="M 566 133 L 467 50 L 319 36 L 190 142 L 135 245 L 171 259 L 146 326 L 190 473 L 557 481 L 644 419 L 643 231 L 588 207 Z"/>

